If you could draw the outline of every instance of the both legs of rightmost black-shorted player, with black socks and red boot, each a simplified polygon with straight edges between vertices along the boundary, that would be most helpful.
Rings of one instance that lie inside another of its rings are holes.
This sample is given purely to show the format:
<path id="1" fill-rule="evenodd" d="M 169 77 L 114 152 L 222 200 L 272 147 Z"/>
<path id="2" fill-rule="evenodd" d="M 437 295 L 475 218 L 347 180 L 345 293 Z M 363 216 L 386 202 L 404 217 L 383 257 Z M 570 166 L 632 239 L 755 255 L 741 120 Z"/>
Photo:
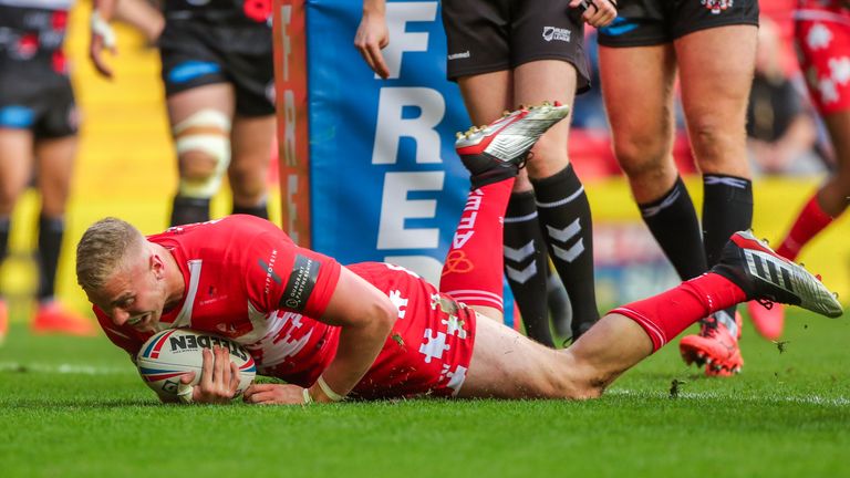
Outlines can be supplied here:
<path id="1" fill-rule="evenodd" d="M 751 17 L 751 2 L 743 6 L 738 6 L 746 9 L 743 17 Z M 743 122 L 756 30 L 750 24 L 719 27 L 717 22 L 727 20 L 699 6 L 681 7 L 670 14 L 676 18 L 656 18 L 646 11 L 638 15 L 640 19 L 622 19 L 623 24 L 639 25 L 631 33 L 602 29 L 600 63 L 618 160 L 650 231 L 680 277 L 688 279 L 714 263 L 726 238 L 747 229 L 751 220 L 751 186 L 745 156 L 738 150 L 745 147 Z M 732 22 L 756 21 L 743 17 Z M 660 27 L 665 22 L 674 22 L 674 34 L 681 31 L 681 38 L 671 40 L 667 29 Z M 694 31 L 699 22 L 711 28 Z M 736 41 L 740 49 L 733 46 Z M 717 56 L 721 51 L 725 53 Z M 688 133 L 704 174 L 702 229 L 671 154 L 677 62 Z M 732 63 L 734 66 L 728 66 Z M 723 80 L 718 71 L 724 71 Z M 728 311 L 706 319 L 701 335 L 685 340 L 683 354 L 688 363 L 713 361 L 712 367 L 706 367 L 708 374 L 728 374 L 740 367 L 739 322 L 733 315 L 734 311 Z"/>

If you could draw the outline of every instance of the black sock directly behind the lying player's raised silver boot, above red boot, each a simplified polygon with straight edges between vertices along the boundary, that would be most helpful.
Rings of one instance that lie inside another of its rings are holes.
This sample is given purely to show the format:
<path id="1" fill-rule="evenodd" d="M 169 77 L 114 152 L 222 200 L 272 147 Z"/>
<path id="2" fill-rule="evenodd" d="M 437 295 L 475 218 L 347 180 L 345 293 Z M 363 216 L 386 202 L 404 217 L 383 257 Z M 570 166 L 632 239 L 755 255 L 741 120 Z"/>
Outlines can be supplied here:
<path id="1" fill-rule="evenodd" d="M 729 237 L 753 226 L 753 181 L 735 176 L 704 175 L 703 188 L 703 243 L 708 267 L 712 267 L 721 260 Z M 726 310 L 729 319 L 735 316 L 735 309 Z"/>

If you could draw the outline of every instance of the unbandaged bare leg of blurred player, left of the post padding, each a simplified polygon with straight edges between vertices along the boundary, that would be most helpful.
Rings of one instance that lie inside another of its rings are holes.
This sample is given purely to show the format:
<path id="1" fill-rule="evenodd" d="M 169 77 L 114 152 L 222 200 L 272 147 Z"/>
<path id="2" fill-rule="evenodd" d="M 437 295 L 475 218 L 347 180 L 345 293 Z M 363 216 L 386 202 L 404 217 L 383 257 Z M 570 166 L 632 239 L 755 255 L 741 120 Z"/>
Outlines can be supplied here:
<path id="1" fill-rule="evenodd" d="M 234 157 L 227 170 L 234 214 L 269 218 L 267 181 L 274 124 L 274 116 L 237 116 L 234 121 Z"/>

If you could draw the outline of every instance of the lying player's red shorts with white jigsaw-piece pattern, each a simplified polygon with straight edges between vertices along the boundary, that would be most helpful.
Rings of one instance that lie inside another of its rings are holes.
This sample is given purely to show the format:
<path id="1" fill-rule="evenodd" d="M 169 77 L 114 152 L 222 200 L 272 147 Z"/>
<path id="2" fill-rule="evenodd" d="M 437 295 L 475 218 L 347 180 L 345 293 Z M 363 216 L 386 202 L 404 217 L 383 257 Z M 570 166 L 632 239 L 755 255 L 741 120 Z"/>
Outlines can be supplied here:
<path id="1" fill-rule="evenodd" d="M 411 294 L 407 300 L 407 311 L 428 313 L 396 320 L 353 397 L 454 396 L 460 391 L 473 360 L 475 312 L 436 291 L 431 297 Z"/>

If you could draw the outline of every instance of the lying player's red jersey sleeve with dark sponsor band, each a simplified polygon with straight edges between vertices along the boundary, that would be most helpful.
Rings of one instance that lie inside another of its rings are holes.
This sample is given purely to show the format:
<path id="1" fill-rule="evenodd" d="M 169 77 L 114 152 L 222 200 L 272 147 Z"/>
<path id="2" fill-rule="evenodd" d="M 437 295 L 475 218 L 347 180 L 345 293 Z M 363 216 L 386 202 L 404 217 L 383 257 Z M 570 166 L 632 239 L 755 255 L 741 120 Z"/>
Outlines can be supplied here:
<path id="1" fill-rule="evenodd" d="M 255 237 L 245 266 L 248 298 L 255 308 L 317 319 L 324 314 L 342 268 L 328 256 L 296 246 L 282 230 Z"/>

